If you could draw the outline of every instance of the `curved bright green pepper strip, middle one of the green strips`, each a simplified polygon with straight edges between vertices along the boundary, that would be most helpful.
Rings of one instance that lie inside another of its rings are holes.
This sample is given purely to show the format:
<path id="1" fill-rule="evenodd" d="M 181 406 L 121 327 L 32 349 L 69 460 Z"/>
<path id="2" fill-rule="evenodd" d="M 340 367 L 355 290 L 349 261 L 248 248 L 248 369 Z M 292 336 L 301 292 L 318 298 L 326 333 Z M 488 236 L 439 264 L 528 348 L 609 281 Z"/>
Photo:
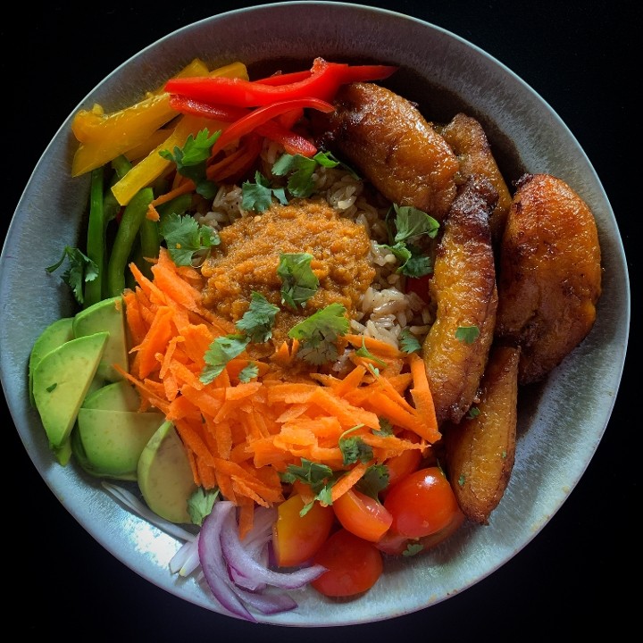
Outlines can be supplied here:
<path id="1" fill-rule="evenodd" d="M 129 254 L 138 238 L 138 230 L 146 218 L 147 206 L 154 198 L 152 188 L 142 188 L 132 196 L 123 210 L 121 223 L 116 231 L 112 255 L 107 264 L 107 296 L 119 296 L 125 289 L 125 269 Z"/>

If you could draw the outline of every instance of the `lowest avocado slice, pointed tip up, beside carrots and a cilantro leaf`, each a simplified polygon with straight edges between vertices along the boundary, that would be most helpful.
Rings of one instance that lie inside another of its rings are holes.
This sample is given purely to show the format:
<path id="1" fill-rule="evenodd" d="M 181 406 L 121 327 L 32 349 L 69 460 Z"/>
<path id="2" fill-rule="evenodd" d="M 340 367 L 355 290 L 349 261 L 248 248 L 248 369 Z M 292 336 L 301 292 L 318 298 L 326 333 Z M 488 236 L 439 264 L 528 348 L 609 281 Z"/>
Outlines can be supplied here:
<path id="1" fill-rule="evenodd" d="M 191 522 L 188 499 L 197 487 L 174 424 L 165 421 L 138 460 L 138 487 L 149 508 L 170 522 Z"/>

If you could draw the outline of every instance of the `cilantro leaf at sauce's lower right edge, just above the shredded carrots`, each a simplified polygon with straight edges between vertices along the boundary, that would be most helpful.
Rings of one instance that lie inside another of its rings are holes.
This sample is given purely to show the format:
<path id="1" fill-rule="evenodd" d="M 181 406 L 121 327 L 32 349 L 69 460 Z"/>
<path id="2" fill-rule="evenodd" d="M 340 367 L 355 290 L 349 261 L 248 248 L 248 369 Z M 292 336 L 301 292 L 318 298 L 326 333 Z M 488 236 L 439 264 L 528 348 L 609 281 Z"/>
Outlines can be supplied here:
<path id="1" fill-rule="evenodd" d="M 346 308 L 330 304 L 293 326 L 288 337 L 300 342 L 297 357 L 321 364 L 338 358 L 337 338 L 347 332 L 348 326 Z"/>

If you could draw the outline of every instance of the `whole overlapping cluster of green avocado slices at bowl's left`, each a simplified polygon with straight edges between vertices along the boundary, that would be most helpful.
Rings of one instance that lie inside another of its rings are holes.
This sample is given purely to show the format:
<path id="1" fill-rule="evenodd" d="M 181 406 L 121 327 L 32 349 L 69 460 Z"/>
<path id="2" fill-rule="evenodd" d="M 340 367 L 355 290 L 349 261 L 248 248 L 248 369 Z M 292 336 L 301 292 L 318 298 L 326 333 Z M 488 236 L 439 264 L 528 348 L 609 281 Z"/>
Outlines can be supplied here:
<path id="1" fill-rule="evenodd" d="M 31 403 L 63 466 L 73 457 L 96 478 L 136 481 L 155 514 L 190 522 L 188 455 L 163 413 L 139 410 L 128 362 L 122 297 L 104 299 L 42 331 L 29 355 Z"/>

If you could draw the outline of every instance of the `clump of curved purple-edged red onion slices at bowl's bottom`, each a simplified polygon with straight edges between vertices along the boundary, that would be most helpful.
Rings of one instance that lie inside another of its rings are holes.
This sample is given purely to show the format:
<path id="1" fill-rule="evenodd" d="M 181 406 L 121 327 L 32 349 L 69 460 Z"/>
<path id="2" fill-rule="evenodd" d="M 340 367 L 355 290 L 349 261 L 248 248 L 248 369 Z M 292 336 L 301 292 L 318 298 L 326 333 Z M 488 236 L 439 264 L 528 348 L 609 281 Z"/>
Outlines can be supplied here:
<path id="1" fill-rule="evenodd" d="M 255 516 L 253 530 L 242 543 L 238 537 L 235 505 L 220 500 L 205 518 L 198 539 L 201 568 L 214 597 L 231 614 L 253 622 L 256 622 L 255 616 L 246 605 L 263 614 L 280 614 L 297 606 L 288 594 L 263 591 L 268 585 L 296 589 L 326 571 L 321 565 L 296 572 L 269 569 L 268 547 L 275 515 L 257 508 Z"/>

